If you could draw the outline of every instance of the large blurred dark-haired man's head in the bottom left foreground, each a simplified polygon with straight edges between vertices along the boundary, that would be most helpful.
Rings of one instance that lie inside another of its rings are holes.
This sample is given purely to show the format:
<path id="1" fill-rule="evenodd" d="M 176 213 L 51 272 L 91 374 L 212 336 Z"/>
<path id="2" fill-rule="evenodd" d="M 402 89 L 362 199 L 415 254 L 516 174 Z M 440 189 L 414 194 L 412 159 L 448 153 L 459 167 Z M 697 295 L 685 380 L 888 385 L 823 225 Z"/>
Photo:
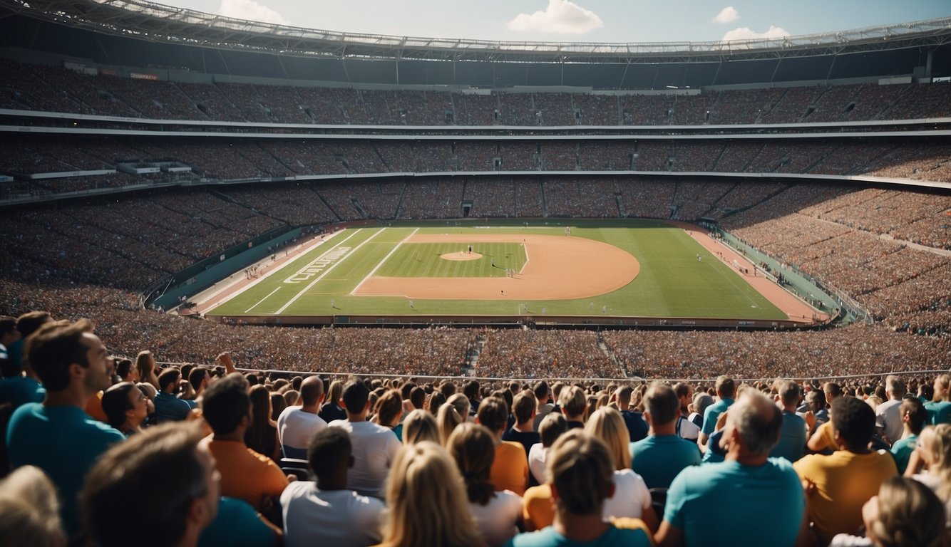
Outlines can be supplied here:
<path id="1" fill-rule="evenodd" d="M 165 424 L 107 451 L 83 490 L 89 538 L 102 547 L 197 545 L 220 498 L 215 458 L 201 440 L 198 424 Z"/>

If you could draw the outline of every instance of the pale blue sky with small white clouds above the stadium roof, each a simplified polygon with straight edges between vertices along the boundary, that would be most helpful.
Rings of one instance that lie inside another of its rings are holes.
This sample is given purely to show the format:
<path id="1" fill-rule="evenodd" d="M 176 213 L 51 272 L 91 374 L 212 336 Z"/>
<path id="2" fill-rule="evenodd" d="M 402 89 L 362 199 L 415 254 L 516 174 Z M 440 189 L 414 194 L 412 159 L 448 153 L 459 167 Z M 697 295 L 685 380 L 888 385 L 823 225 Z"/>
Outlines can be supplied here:
<path id="1" fill-rule="evenodd" d="M 948 0 L 153 1 L 294 27 L 516 42 L 708 42 L 951 16 Z"/>

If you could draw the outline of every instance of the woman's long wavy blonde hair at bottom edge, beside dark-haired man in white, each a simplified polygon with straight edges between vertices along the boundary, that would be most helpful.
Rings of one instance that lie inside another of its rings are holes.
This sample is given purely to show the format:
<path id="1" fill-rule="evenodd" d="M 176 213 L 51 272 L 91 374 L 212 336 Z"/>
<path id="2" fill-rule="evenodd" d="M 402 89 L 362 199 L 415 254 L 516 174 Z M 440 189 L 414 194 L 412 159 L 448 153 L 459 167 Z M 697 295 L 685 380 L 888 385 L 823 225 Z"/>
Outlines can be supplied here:
<path id="1" fill-rule="evenodd" d="M 465 487 L 437 443 L 404 446 L 386 481 L 381 547 L 485 546 L 466 502 Z"/>

